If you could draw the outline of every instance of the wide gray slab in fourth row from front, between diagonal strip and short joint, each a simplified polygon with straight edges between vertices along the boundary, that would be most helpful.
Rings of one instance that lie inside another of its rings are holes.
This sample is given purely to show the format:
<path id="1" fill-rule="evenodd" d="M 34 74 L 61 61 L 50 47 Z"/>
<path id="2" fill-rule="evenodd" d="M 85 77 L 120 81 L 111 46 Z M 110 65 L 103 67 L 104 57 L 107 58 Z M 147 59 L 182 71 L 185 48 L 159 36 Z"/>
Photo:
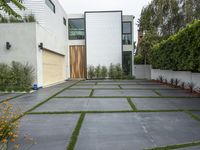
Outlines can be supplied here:
<path id="1" fill-rule="evenodd" d="M 119 89 L 118 85 L 75 85 L 71 89 Z"/>

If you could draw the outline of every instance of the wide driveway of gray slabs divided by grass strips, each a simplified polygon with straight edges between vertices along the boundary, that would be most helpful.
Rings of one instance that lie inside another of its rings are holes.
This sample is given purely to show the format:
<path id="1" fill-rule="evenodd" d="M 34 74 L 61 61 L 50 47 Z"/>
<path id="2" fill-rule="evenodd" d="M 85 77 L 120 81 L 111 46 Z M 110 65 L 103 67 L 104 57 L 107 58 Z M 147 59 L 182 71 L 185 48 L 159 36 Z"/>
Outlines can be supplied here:
<path id="1" fill-rule="evenodd" d="M 26 112 L 17 142 L 30 135 L 30 150 L 200 146 L 200 98 L 153 81 L 68 81 L 10 102 Z"/>

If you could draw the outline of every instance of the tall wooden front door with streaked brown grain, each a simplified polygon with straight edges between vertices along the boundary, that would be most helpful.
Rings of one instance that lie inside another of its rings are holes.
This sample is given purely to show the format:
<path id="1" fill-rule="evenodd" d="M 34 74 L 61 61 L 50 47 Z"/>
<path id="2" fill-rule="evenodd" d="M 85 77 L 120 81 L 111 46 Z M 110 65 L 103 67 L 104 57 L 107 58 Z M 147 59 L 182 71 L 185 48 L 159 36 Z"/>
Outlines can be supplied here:
<path id="1" fill-rule="evenodd" d="M 86 78 L 86 51 L 83 45 L 70 46 L 70 77 Z"/>

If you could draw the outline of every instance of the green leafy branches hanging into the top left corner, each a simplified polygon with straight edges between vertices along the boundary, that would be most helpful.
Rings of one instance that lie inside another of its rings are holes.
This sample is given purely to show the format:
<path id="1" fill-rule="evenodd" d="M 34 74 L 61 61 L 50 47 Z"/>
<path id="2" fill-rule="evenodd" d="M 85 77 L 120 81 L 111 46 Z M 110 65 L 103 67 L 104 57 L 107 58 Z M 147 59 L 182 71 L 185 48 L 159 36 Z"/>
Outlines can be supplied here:
<path id="1" fill-rule="evenodd" d="M 22 0 L 0 0 L 0 18 L 3 18 L 2 12 L 9 16 L 20 18 L 21 16 L 8 5 L 8 1 L 14 4 L 18 9 L 25 10 L 25 7 L 22 5 Z"/>

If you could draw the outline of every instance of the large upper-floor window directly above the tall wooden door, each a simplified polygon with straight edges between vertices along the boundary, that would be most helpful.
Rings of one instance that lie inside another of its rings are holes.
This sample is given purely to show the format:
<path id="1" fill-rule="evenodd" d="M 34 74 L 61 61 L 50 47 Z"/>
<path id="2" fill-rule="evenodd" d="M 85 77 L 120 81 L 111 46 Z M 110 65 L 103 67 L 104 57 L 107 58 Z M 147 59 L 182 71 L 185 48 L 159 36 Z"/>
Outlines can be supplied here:
<path id="1" fill-rule="evenodd" d="M 69 39 L 85 39 L 85 20 L 83 18 L 69 19 Z"/>

